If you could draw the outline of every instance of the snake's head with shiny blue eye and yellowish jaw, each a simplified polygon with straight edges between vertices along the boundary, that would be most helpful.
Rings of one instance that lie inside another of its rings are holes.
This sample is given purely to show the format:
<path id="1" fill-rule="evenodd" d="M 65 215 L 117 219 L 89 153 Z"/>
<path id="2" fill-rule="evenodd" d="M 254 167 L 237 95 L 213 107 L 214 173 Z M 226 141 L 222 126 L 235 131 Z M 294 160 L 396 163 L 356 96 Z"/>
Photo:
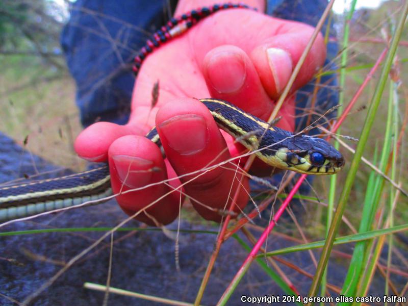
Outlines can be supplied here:
<path id="1" fill-rule="evenodd" d="M 333 174 L 345 164 L 334 146 L 307 135 L 288 139 L 277 149 L 275 156 L 287 164 L 287 169 L 307 174 Z"/>

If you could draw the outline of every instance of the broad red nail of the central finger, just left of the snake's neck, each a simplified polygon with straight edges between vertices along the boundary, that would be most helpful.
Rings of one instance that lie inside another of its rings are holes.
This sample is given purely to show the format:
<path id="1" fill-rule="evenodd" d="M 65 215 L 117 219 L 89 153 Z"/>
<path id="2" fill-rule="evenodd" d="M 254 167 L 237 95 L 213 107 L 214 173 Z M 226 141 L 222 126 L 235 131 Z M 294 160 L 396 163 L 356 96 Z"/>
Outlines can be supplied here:
<path id="1" fill-rule="evenodd" d="M 168 145 L 181 155 L 192 155 L 207 145 L 207 123 L 199 115 L 179 115 L 159 125 Z"/>

